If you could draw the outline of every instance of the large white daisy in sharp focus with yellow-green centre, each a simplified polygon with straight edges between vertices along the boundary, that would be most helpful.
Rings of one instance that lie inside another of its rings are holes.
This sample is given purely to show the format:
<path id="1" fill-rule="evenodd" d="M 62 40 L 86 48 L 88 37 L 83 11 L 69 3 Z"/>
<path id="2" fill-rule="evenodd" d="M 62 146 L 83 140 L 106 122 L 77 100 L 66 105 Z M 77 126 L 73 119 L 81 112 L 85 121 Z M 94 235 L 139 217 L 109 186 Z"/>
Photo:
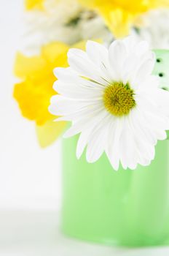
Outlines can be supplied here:
<path id="1" fill-rule="evenodd" d="M 149 165 L 157 140 L 169 129 L 169 92 L 152 75 L 154 53 L 145 42 L 127 37 L 109 49 L 88 41 L 86 52 L 68 51 L 68 68 L 56 68 L 58 80 L 50 113 L 71 121 L 64 137 L 79 134 L 76 156 L 87 146 L 87 162 L 106 152 L 114 170 Z"/>

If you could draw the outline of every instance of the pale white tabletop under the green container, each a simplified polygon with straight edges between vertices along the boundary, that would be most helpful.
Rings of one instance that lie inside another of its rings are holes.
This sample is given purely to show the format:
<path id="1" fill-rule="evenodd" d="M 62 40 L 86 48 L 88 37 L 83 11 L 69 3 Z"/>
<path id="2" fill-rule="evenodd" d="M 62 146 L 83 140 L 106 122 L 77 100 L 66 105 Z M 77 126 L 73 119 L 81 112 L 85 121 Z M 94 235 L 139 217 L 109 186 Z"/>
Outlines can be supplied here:
<path id="1" fill-rule="evenodd" d="M 1 211 L 1 256 L 168 256 L 169 247 L 125 249 L 63 236 L 55 211 Z"/>

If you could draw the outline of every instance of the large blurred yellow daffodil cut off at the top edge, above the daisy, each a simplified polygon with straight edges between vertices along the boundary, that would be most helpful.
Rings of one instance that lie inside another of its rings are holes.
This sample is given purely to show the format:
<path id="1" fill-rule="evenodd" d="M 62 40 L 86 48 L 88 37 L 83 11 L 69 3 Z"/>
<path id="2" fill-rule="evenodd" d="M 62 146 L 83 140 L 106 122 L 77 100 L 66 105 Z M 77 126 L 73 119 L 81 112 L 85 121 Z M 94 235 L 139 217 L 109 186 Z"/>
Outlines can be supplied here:
<path id="1" fill-rule="evenodd" d="M 169 0 L 79 0 L 86 7 L 98 10 L 115 37 L 124 37 L 139 16 L 158 7 L 169 7 Z"/>

